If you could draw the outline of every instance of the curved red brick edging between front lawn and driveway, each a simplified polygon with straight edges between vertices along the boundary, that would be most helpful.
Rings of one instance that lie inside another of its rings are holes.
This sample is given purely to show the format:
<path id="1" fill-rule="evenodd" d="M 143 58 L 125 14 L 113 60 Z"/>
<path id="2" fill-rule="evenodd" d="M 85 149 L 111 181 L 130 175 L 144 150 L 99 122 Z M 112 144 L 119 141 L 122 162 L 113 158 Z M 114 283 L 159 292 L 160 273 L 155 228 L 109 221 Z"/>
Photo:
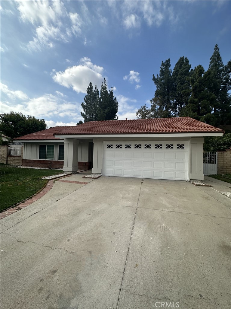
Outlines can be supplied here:
<path id="1" fill-rule="evenodd" d="M 48 191 L 51 190 L 54 183 L 55 181 L 53 179 L 49 180 L 47 185 L 43 187 L 39 192 L 35 193 L 31 197 L 28 197 L 28 199 L 20 202 L 18 206 L 15 206 L 15 208 L 13 208 L 14 206 L 11 206 L 10 208 L 8 208 L 8 210 L 4 210 L 2 213 L 0 213 L 0 219 L 5 218 L 9 216 L 10 214 L 14 214 L 18 210 L 21 210 L 22 208 L 32 204 L 33 202 L 38 201 L 40 197 L 43 197 Z"/>

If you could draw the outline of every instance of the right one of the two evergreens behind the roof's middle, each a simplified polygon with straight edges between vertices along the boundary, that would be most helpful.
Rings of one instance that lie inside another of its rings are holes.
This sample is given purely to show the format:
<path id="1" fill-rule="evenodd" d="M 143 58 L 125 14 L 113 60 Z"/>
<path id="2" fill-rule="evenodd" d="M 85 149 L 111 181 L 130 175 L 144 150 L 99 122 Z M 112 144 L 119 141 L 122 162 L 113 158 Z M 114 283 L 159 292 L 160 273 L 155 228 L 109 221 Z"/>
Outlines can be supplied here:
<path id="1" fill-rule="evenodd" d="M 100 90 L 98 120 L 117 120 L 117 112 L 118 102 L 113 94 L 113 89 L 107 91 L 107 82 L 104 78 Z"/>

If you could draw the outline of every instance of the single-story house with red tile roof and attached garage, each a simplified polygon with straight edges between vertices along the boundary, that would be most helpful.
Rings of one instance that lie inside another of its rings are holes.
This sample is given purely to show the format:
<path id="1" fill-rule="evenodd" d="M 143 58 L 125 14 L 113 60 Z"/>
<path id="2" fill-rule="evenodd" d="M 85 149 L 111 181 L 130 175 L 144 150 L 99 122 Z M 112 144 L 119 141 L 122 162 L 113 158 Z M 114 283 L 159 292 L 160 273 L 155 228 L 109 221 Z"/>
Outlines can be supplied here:
<path id="1" fill-rule="evenodd" d="M 224 130 L 190 117 L 91 121 L 54 127 L 14 141 L 24 143 L 22 165 L 78 166 L 104 176 L 203 180 L 205 136 Z"/>

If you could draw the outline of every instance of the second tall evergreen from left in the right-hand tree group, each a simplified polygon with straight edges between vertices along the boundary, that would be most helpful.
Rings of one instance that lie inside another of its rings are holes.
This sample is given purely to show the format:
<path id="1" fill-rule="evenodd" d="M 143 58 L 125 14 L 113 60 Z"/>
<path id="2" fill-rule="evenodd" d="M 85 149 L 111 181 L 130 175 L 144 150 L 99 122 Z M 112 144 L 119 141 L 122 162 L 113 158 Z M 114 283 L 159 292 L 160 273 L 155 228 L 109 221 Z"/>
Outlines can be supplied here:
<path id="1" fill-rule="evenodd" d="M 172 113 L 174 116 L 180 116 L 182 107 L 188 103 L 190 96 L 190 68 L 187 57 L 180 57 L 172 71 Z"/>

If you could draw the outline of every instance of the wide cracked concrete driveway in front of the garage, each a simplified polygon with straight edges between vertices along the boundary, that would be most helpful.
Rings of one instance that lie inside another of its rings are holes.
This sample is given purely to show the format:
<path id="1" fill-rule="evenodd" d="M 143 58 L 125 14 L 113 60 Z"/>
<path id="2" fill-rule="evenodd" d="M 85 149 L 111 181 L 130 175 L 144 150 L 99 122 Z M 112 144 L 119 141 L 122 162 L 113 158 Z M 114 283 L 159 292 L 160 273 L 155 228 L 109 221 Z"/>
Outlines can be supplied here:
<path id="1" fill-rule="evenodd" d="M 83 176 L 1 220 L 2 309 L 230 308 L 228 197 Z"/>

